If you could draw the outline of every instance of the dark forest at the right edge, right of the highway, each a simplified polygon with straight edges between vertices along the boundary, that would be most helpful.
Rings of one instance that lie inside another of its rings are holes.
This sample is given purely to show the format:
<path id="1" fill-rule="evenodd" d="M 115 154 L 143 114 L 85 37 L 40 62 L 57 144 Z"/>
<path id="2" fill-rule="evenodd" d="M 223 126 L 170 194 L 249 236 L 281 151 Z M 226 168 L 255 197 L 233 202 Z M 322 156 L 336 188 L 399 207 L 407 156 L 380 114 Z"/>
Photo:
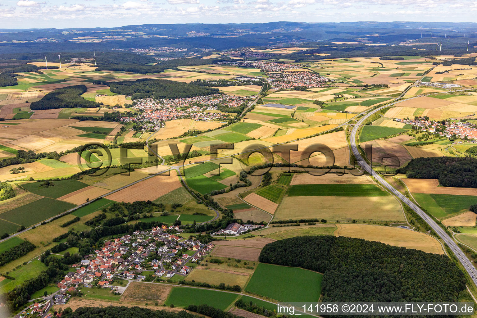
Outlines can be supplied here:
<path id="1" fill-rule="evenodd" d="M 443 186 L 477 188 L 477 159 L 475 158 L 415 158 L 396 170 L 408 178 L 439 179 Z"/>

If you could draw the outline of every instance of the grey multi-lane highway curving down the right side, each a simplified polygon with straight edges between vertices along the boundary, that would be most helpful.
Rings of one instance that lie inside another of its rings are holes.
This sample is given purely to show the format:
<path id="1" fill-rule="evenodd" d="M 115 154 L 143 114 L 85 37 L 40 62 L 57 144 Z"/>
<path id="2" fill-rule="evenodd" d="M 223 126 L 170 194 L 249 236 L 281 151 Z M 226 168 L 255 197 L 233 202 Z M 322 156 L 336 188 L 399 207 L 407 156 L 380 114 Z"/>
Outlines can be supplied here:
<path id="1" fill-rule="evenodd" d="M 413 97 L 415 98 L 415 97 Z M 409 98 L 412 99 L 412 98 Z M 405 99 L 405 100 L 409 100 Z M 400 103 L 405 100 L 395 102 L 395 103 Z M 358 128 L 363 124 L 363 122 L 371 116 L 373 113 L 376 113 L 380 111 L 382 108 L 393 106 L 395 103 L 387 104 L 382 107 L 379 107 L 375 110 L 373 110 L 370 113 L 365 114 L 363 117 L 360 118 L 360 120 L 356 123 L 356 125 L 353 126 L 353 129 L 351 131 L 351 137 L 350 137 L 350 144 L 351 144 L 351 150 L 353 151 L 354 156 L 356 157 L 356 161 L 360 166 L 363 167 L 363 169 L 372 175 L 376 181 L 384 186 L 392 195 L 403 201 L 406 205 L 408 205 L 411 209 L 413 209 L 419 216 L 421 216 L 424 221 L 437 233 L 437 235 L 446 243 L 447 246 L 451 249 L 451 251 L 454 253 L 454 255 L 457 257 L 459 262 L 462 264 L 464 269 L 467 271 L 469 274 L 470 278 L 474 282 L 475 285 L 477 285 L 477 270 L 474 267 L 474 265 L 470 262 L 470 260 L 467 258 L 467 256 L 462 252 L 462 250 L 457 246 L 456 242 L 452 239 L 451 236 L 449 236 L 446 231 L 440 227 L 436 221 L 434 221 L 429 215 L 427 215 L 418 205 L 416 205 L 414 202 L 412 202 L 410 199 L 408 199 L 406 196 L 404 196 L 402 193 L 400 193 L 398 190 L 396 190 L 392 185 L 387 183 L 386 180 L 383 179 L 381 174 L 375 172 L 373 168 L 363 159 L 361 153 L 358 150 L 358 146 L 356 144 L 356 133 L 358 131 Z"/>

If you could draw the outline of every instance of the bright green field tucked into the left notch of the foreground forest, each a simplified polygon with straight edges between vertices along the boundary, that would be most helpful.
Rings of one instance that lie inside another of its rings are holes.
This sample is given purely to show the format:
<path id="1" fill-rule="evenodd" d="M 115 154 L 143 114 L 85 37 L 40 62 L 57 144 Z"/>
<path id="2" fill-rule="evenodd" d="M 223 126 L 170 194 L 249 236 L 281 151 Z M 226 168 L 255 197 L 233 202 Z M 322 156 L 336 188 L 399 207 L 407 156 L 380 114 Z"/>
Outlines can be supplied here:
<path id="1" fill-rule="evenodd" d="M 320 273 L 299 267 L 260 263 L 245 290 L 278 301 L 317 302 L 322 277 Z"/>

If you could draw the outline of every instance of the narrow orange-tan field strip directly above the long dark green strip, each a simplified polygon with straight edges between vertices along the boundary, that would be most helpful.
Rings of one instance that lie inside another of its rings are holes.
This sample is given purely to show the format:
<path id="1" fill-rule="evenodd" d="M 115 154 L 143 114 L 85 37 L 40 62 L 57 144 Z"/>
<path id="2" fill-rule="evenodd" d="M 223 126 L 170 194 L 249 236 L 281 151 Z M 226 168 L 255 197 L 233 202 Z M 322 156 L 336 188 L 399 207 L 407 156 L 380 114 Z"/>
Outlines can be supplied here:
<path id="1" fill-rule="evenodd" d="M 344 185 L 344 184 L 372 184 L 366 175 L 356 176 L 353 174 L 294 174 L 290 185 Z"/>

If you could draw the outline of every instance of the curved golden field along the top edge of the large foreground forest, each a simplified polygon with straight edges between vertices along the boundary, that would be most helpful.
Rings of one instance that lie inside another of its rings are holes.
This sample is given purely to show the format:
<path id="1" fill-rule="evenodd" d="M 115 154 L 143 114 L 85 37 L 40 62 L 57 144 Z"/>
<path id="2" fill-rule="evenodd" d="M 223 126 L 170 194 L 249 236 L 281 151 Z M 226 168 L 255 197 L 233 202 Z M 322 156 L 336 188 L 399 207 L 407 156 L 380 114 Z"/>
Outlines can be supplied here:
<path id="1" fill-rule="evenodd" d="M 392 246 L 415 248 L 427 253 L 444 254 L 441 243 L 434 237 L 393 226 L 337 224 L 335 236 L 357 237 Z"/>

